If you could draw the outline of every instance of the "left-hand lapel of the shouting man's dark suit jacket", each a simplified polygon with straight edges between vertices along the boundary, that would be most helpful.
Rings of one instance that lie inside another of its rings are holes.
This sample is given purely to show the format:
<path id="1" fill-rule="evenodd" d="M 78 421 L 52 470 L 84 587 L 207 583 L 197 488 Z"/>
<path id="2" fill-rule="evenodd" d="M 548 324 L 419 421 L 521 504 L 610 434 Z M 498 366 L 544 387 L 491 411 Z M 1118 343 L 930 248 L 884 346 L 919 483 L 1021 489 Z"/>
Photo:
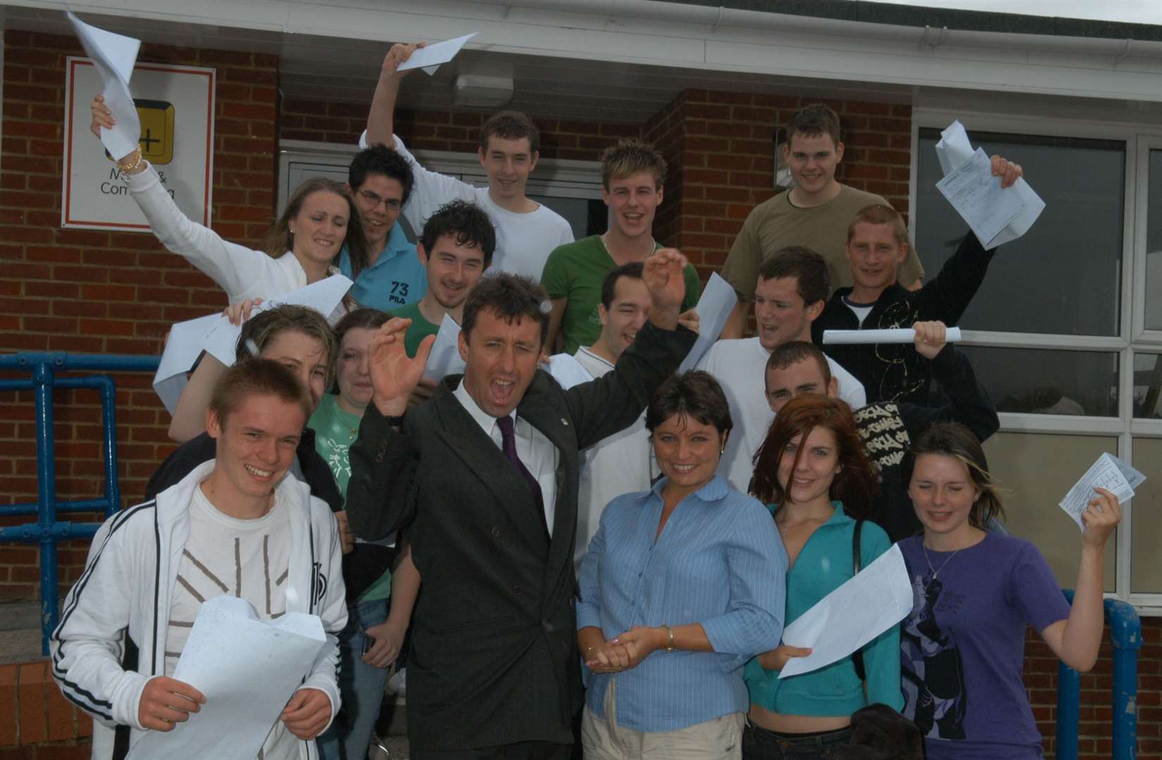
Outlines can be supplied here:
<path id="1" fill-rule="evenodd" d="M 440 385 L 432 403 L 439 414 L 436 433 L 464 465 L 496 497 L 500 508 L 508 512 L 525 538 L 540 551 L 548 549 L 539 521 L 532 519 L 536 506 L 524 478 L 500 447 L 481 429 L 447 385 Z M 439 466 L 437 464 L 437 466 Z M 450 471 L 451 476 L 451 471 Z"/>

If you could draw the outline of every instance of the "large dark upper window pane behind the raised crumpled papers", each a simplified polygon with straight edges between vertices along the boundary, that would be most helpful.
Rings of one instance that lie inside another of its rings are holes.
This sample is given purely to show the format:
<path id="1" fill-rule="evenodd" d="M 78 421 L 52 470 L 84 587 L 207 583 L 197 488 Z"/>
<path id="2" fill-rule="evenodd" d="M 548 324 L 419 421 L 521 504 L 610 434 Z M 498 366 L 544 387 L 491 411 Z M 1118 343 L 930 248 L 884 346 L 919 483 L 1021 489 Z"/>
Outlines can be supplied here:
<path id="1" fill-rule="evenodd" d="M 994 132 L 969 137 L 990 155 L 1020 164 L 1046 208 L 1025 237 L 997 253 L 961 326 L 1117 335 L 1125 143 Z M 939 139 L 940 130 L 920 130 L 913 232 L 928 278 L 954 252 L 949 241 L 968 229 L 935 188 L 944 176 L 935 154 Z"/>

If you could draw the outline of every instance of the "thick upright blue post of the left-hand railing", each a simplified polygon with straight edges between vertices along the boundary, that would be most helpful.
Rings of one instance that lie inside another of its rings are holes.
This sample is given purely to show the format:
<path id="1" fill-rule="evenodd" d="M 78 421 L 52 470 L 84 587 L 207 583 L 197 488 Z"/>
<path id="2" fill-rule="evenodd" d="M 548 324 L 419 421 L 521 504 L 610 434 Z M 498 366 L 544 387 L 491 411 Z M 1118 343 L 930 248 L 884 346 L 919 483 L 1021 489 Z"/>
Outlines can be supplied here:
<path id="1" fill-rule="evenodd" d="M 49 636 L 57 627 L 57 471 L 52 432 L 52 368 L 40 361 L 33 369 L 36 396 L 37 541 L 41 544 L 41 653 L 49 653 Z"/>

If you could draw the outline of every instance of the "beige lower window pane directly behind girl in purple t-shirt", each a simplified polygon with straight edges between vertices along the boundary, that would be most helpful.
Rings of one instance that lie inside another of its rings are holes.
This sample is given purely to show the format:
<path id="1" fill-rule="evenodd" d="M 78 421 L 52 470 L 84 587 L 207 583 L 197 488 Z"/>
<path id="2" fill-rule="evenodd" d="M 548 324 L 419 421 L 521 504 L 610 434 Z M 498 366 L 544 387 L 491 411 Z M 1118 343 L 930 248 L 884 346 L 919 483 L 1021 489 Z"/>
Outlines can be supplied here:
<path id="1" fill-rule="evenodd" d="M 1006 490 L 1003 497 L 1009 531 L 1037 544 L 1062 588 L 1077 585 L 1082 535 L 1077 523 L 1057 502 L 1103 451 L 1117 454 L 1118 439 L 997 433 L 984 443 L 989 469 Z M 1103 576 L 1103 587 L 1107 592 L 1114 589 L 1117 580 L 1116 547 L 1116 537 L 1111 536 L 1105 548 Z"/>

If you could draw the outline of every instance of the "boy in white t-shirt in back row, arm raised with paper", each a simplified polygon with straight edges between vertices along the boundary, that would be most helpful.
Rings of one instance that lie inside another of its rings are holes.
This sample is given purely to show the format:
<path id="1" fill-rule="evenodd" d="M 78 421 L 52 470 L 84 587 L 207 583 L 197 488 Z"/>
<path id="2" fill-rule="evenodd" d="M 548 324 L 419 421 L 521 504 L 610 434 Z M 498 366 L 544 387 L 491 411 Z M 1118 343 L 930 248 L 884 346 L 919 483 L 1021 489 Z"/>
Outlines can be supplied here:
<path id="1" fill-rule="evenodd" d="M 414 230 L 421 230 L 436 209 L 449 201 L 473 201 L 488 212 L 496 225 L 496 254 L 493 269 L 540 278 L 548 254 L 557 246 L 573 243 L 573 229 L 555 211 L 525 195 L 529 174 L 540 157 L 537 125 L 516 111 L 501 111 L 480 129 L 480 166 L 488 174 L 488 187 L 478 188 L 454 176 L 425 169 L 393 133 L 395 100 L 400 81 L 408 73 L 399 71 L 421 45 L 396 44 L 383 58 L 379 84 L 367 115 L 367 131 L 361 147 L 387 145 L 406 158 L 416 184 L 403 207 L 403 216 Z"/>

